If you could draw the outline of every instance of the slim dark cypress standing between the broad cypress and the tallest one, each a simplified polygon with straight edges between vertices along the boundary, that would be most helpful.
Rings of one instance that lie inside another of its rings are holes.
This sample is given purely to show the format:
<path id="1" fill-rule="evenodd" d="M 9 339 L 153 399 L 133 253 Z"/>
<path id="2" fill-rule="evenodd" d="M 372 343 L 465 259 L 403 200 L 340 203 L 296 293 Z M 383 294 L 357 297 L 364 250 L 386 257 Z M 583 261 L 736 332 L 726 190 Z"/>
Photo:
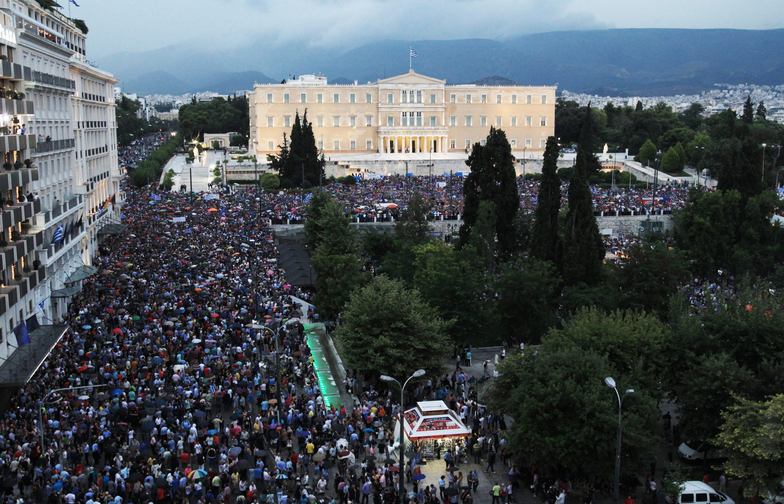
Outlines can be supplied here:
<path id="1" fill-rule="evenodd" d="M 550 136 L 544 150 L 531 245 L 532 256 L 556 265 L 561 263 L 561 236 L 558 234 L 561 178 L 558 176 L 557 160 L 558 143 L 554 136 Z"/>

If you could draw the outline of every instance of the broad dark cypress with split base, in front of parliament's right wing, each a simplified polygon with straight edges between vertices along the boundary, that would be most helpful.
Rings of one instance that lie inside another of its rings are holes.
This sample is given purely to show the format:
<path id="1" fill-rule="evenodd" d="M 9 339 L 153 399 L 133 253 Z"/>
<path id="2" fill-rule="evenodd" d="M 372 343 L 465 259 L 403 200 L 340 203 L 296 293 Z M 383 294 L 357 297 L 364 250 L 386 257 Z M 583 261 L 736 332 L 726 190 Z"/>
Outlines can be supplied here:
<path id="1" fill-rule="evenodd" d="M 495 205 L 495 235 L 501 256 L 510 256 L 515 248 L 514 219 L 520 207 L 514 156 L 503 129 L 490 127 L 485 145 L 474 143 L 466 161 L 471 172 L 463 182 L 463 226 L 460 227 L 460 244 L 466 243 L 471 227 L 477 221 L 481 201 Z"/>

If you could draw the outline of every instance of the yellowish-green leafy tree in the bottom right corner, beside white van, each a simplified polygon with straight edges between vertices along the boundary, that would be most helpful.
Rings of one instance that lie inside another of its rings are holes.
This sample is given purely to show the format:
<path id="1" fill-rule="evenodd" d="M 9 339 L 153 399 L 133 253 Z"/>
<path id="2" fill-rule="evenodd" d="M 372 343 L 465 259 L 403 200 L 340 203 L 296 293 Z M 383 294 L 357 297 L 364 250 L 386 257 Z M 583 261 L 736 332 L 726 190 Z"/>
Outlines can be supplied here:
<path id="1" fill-rule="evenodd" d="M 776 495 L 784 474 L 784 395 L 761 402 L 739 399 L 722 418 L 717 441 L 728 454 L 724 471 L 746 479 L 748 498 Z"/>

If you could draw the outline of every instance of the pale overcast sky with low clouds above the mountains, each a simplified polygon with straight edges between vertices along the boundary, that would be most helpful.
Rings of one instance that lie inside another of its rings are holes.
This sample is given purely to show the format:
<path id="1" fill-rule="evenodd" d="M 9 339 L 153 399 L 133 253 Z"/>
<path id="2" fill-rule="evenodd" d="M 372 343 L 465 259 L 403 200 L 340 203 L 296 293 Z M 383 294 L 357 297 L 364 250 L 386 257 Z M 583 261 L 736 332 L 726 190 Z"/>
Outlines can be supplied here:
<path id="1" fill-rule="evenodd" d="M 67 0 L 60 2 L 67 5 Z M 508 38 L 587 28 L 784 27 L 782 0 L 77 0 L 88 56 L 267 36 L 350 48 L 379 39 Z M 68 8 L 63 12 L 67 14 Z"/>

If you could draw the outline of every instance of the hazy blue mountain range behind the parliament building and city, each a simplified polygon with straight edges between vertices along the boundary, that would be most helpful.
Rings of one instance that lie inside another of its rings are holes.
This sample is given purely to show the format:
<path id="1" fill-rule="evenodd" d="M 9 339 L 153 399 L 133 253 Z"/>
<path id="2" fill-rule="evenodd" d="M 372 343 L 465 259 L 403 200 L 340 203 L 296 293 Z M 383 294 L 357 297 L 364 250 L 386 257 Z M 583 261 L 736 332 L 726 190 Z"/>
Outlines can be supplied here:
<path id="1" fill-rule="evenodd" d="M 260 39 L 232 50 L 202 45 L 196 56 L 192 42 L 183 42 L 107 56 L 101 67 L 126 92 L 227 93 L 299 74 L 375 82 L 408 71 L 409 47 L 419 53 L 415 71 L 456 84 L 558 84 L 572 92 L 612 89 L 619 96 L 693 93 L 718 82 L 784 84 L 784 52 L 775 49 L 784 47 L 784 29 L 551 31 L 505 40 L 387 40 L 353 49 Z"/>

